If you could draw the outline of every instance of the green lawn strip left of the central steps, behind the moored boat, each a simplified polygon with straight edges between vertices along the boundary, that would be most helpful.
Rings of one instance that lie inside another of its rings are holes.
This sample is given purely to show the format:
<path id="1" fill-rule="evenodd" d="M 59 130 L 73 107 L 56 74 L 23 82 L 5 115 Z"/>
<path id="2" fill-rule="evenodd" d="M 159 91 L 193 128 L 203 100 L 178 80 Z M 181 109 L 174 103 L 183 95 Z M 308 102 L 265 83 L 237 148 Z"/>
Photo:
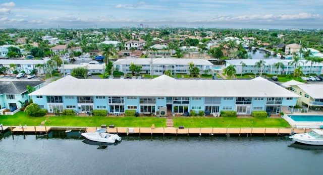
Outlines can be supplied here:
<path id="1" fill-rule="evenodd" d="M 50 116 L 46 126 L 75 126 L 75 127 L 99 127 L 101 125 L 115 125 L 116 127 L 166 127 L 165 118 L 155 117 L 107 117 L 107 116 Z"/>

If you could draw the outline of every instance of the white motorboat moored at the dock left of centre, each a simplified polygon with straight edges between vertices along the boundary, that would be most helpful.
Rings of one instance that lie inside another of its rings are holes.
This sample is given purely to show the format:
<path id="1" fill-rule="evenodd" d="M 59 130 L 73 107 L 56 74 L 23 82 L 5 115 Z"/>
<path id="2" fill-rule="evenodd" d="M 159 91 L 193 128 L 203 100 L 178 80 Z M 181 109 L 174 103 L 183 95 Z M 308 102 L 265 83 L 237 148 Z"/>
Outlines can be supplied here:
<path id="1" fill-rule="evenodd" d="M 87 132 L 82 133 L 81 135 L 87 138 L 88 140 L 95 142 L 115 143 L 117 141 L 121 141 L 121 137 L 119 137 L 117 134 Z"/>

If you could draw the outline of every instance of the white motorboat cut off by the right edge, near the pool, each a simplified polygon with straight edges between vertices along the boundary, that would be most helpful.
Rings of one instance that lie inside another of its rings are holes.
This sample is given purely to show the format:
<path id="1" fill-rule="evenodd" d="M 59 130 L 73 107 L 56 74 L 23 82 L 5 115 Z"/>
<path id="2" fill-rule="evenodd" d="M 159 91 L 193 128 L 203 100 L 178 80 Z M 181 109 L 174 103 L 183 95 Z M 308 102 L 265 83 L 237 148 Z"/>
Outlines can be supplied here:
<path id="1" fill-rule="evenodd" d="M 313 129 L 308 133 L 294 134 L 289 138 L 295 142 L 307 145 L 323 145 L 323 131 Z"/>

